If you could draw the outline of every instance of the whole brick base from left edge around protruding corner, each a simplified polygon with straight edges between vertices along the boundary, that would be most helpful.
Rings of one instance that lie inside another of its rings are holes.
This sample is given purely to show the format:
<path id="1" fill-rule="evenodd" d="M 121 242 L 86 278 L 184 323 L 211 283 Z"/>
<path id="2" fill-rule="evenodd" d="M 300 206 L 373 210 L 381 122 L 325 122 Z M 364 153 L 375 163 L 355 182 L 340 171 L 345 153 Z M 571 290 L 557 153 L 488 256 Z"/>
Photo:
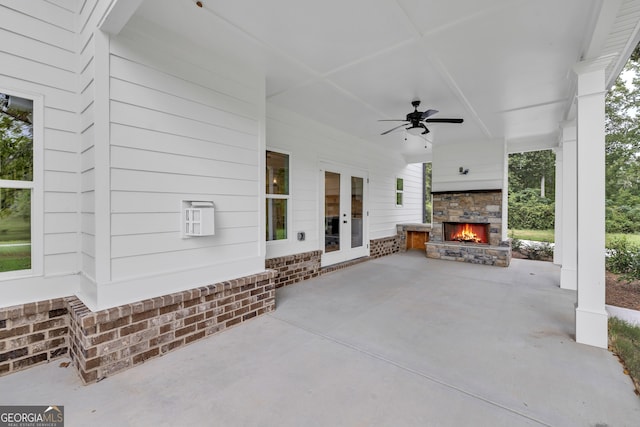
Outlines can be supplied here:
<path id="1" fill-rule="evenodd" d="M 92 312 L 76 297 L 0 309 L 0 375 L 69 353 L 85 384 L 275 309 L 275 271 Z"/>

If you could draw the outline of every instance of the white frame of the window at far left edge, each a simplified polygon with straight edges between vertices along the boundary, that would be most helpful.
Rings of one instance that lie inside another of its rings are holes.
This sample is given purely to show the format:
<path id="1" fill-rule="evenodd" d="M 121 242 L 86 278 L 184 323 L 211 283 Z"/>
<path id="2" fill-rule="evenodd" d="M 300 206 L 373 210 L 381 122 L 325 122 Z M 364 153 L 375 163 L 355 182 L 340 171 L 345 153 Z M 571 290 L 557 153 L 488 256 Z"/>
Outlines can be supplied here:
<path id="1" fill-rule="evenodd" d="M 41 276 L 44 268 L 44 99 L 42 95 L 0 87 L 0 93 L 33 101 L 33 180 L 0 179 L 0 187 L 31 190 L 31 268 L 0 272 L 0 281 Z"/>

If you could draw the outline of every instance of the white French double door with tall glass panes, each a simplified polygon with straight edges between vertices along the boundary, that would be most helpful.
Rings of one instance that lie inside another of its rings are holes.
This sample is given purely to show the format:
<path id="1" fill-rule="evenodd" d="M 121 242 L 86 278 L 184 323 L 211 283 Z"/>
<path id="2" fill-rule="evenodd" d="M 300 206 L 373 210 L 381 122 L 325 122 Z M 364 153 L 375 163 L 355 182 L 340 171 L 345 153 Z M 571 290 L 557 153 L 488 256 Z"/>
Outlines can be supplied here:
<path id="1" fill-rule="evenodd" d="M 322 166 L 322 265 L 368 256 L 367 174 L 336 165 Z"/>

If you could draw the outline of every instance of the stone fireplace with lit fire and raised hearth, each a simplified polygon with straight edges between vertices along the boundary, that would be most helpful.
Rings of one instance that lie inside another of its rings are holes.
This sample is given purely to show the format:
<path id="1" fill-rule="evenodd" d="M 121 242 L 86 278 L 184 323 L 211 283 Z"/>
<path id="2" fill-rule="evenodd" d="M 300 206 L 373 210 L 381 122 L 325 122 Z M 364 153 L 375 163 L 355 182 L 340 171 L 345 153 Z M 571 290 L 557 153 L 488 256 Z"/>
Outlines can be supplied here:
<path id="1" fill-rule="evenodd" d="M 507 267 L 511 247 L 502 235 L 502 190 L 434 192 L 427 257 Z"/>

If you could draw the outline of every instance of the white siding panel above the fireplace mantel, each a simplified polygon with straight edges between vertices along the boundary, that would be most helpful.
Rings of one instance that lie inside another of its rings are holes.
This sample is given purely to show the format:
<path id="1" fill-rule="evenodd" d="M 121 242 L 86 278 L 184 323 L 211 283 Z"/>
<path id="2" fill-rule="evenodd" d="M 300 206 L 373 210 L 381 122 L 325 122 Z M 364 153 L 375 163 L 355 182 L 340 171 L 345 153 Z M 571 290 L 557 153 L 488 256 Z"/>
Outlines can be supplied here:
<path id="1" fill-rule="evenodd" d="M 505 186 L 501 140 L 433 145 L 432 191 L 501 190 Z M 460 167 L 469 169 L 461 175 Z"/>

